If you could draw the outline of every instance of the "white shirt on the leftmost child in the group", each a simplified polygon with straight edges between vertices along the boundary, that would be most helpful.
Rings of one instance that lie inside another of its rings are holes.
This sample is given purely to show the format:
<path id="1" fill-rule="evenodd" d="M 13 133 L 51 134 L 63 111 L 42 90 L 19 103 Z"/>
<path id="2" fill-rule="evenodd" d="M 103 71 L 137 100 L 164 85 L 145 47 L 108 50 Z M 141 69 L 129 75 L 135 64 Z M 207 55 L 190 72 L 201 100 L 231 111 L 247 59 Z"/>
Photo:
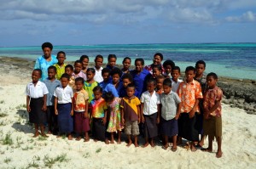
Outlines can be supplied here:
<path id="1" fill-rule="evenodd" d="M 36 86 L 30 82 L 26 85 L 26 95 L 32 99 L 43 98 L 44 94 L 48 94 L 48 89 L 44 82 L 38 81 Z"/>

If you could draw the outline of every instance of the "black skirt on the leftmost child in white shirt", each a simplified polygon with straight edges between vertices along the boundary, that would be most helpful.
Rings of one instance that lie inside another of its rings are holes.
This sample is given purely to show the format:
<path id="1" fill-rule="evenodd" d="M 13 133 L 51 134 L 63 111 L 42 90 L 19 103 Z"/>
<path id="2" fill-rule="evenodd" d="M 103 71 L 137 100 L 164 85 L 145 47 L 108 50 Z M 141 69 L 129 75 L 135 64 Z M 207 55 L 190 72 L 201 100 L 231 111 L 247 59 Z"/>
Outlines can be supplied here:
<path id="1" fill-rule="evenodd" d="M 44 105 L 44 99 L 30 99 L 30 109 L 29 112 L 29 122 L 36 123 L 36 124 L 44 124 L 46 122 L 47 116 L 46 112 L 42 110 Z"/>

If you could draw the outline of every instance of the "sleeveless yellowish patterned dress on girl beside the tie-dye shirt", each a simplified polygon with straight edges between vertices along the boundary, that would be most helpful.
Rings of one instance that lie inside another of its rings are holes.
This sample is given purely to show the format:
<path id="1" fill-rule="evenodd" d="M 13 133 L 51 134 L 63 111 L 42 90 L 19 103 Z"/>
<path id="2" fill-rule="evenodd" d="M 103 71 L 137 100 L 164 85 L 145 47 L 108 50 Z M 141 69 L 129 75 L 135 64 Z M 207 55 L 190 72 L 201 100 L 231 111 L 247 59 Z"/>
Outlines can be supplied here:
<path id="1" fill-rule="evenodd" d="M 121 125 L 120 101 L 121 99 L 115 98 L 113 102 L 109 104 L 110 115 L 107 132 L 121 131 L 124 128 Z"/>

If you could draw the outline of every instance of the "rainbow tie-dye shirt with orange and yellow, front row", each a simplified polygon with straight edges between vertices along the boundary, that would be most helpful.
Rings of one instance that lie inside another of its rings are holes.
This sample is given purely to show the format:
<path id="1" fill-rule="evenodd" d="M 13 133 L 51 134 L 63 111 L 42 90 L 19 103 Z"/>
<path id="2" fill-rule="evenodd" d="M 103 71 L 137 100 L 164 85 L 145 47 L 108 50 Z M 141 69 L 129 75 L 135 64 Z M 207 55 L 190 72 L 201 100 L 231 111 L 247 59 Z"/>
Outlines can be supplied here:
<path id="1" fill-rule="evenodd" d="M 107 104 L 104 99 L 92 99 L 90 101 L 91 115 L 94 118 L 103 118 L 105 115 L 105 110 L 108 109 Z"/>

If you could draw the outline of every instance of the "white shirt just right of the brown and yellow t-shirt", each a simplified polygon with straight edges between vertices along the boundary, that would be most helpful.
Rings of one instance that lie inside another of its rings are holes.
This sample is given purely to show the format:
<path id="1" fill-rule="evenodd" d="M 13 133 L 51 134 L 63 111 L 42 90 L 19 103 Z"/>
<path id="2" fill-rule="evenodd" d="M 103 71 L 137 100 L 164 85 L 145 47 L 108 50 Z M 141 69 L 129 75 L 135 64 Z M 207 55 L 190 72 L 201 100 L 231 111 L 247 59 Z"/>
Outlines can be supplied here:
<path id="1" fill-rule="evenodd" d="M 156 113 L 157 104 L 160 104 L 160 95 L 154 91 L 152 96 L 148 91 L 144 92 L 141 97 L 143 105 L 143 115 L 153 115 Z"/>

